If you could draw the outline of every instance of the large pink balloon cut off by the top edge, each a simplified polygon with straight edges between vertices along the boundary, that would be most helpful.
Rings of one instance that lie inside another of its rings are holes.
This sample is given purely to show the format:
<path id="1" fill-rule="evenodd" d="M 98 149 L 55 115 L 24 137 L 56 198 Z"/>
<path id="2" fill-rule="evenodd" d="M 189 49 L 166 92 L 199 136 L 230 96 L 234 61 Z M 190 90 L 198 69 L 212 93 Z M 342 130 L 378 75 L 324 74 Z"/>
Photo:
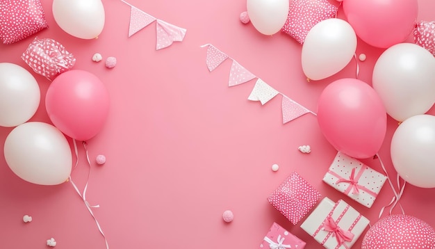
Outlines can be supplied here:
<path id="1" fill-rule="evenodd" d="M 407 40 L 416 24 L 417 0 L 345 0 L 343 11 L 356 35 L 373 47 Z"/>

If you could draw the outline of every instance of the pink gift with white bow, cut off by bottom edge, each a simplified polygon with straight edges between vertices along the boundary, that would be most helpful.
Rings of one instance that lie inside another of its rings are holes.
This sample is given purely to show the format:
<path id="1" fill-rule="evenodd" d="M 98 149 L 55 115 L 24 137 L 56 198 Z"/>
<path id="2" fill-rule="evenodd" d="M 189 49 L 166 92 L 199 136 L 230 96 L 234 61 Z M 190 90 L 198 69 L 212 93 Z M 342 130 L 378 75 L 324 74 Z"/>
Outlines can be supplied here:
<path id="1" fill-rule="evenodd" d="M 305 242 L 299 239 L 297 236 L 288 232 L 284 227 L 281 227 L 277 223 L 273 223 L 266 236 L 264 236 L 263 242 L 260 244 L 260 248 L 297 248 L 303 249 Z"/>

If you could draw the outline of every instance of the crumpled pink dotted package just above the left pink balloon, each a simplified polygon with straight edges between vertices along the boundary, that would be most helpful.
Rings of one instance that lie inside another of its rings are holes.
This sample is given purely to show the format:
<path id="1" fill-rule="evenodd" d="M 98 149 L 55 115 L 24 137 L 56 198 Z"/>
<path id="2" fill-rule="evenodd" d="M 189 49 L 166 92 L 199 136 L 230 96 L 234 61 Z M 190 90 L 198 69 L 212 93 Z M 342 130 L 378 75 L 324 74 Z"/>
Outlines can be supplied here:
<path id="1" fill-rule="evenodd" d="M 35 38 L 21 58 L 33 71 L 53 80 L 74 67 L 76 58 L 63 45 L 49 38 Z"/>

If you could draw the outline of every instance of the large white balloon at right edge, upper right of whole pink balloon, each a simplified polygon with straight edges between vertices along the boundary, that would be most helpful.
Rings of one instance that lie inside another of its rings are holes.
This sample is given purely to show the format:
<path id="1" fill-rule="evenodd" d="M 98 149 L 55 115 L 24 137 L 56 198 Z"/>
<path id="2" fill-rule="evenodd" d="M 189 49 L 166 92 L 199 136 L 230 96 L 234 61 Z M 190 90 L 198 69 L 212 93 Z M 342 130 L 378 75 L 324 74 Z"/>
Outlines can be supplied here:
<path id="1" fill-rule="evenodd" d="M 377 59 L 372 86 L 395 120 L 426 113 L 435 103 L 435 58 L 416 44 L 393 45 Z"/>

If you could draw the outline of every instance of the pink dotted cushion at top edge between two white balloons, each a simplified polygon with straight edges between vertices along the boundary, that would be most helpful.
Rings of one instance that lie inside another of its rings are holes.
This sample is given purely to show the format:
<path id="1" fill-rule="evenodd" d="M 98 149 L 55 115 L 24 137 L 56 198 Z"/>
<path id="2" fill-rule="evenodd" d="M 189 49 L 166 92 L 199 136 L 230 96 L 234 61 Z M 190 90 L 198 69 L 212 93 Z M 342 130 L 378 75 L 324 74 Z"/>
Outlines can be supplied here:
<path id="1" fill-rule="evenodd" d="M 290 35 L 300 44 L 315 24 L 336 16 L 338 6 L 328 0 L 293 0 L 290 3 L 286 24 L 282 32 Z"/>

